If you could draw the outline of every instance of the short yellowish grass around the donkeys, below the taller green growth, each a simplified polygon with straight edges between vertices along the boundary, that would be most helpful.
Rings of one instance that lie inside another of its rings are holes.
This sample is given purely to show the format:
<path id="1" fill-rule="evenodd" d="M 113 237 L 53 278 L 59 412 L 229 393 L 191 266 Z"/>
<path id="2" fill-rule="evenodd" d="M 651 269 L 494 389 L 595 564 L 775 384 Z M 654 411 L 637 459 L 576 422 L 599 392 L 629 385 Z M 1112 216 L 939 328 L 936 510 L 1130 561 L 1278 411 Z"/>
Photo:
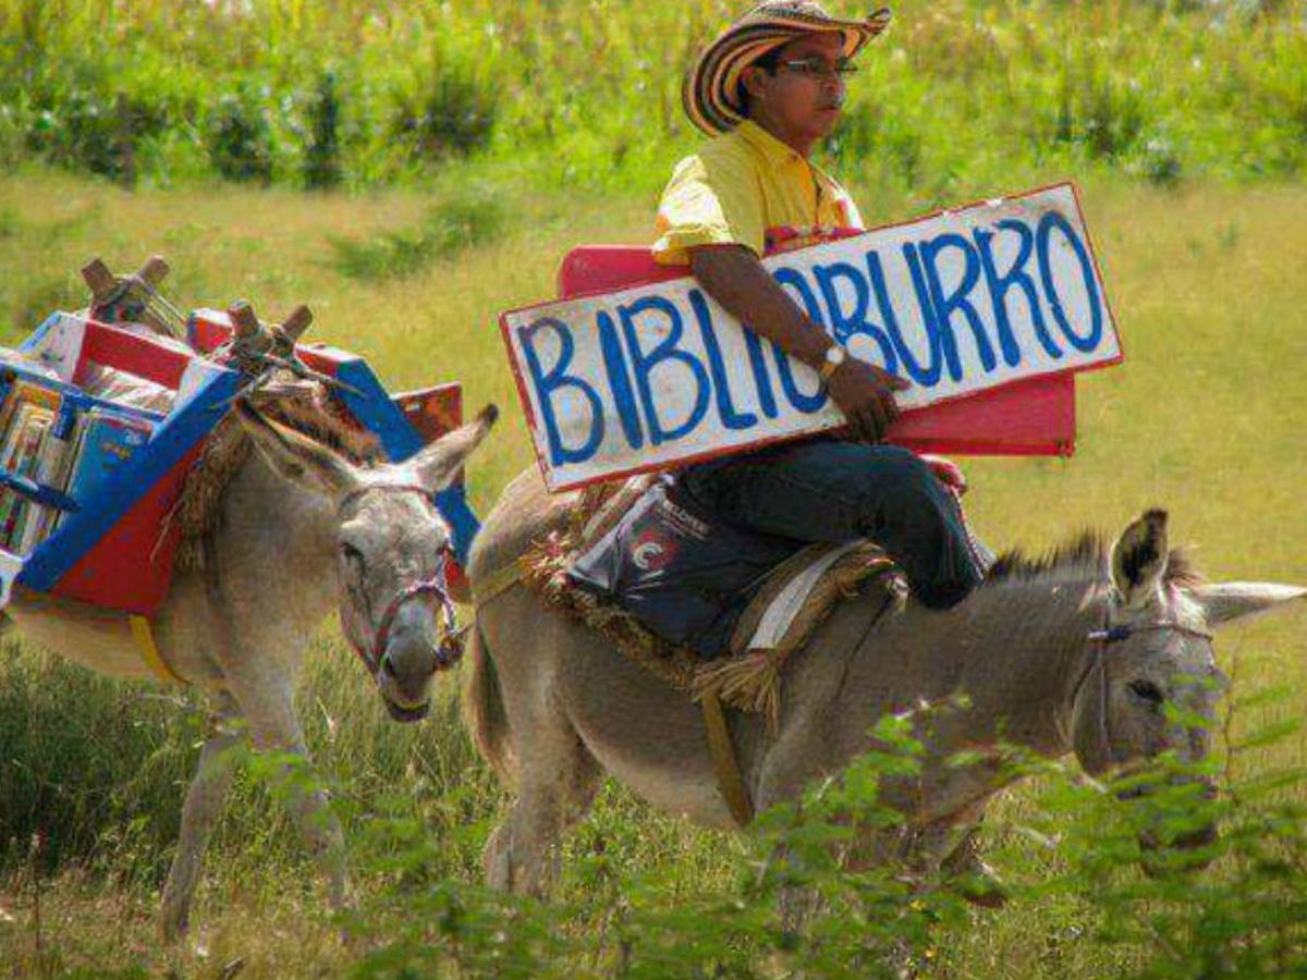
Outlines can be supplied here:
<path id="1" fill-rule="evenodd" d="M 853 176 L 872 220 L 907 217 L 920 204 L 895 201 Z M 403 277 L 356 280 L 340 268 L 333 240 L 422 227 L 461 192 L 437 183 L 421 193 L 125 193 L 69 176 L 0 178 L 0 342 L 21 338 L 43 303 L 72 301 L 73 270 L 94 255 L 127 268 L 163 252 L 175 269 L 166 291 L 183 307 L 246 295 L 276 318 L 307 302 L 314 338 L 363 354 L 389 387 L 459 379 L 469 408 L 497 401 L 507 409 L 469 473 L 484 512 L 532 460 L 497 314 L 549 297 L 557 261 L 572 244 L 647 240 L 654 206 L 648 193 L 493 187 L 505 216 L 497 237 L 433 253 Z M 1039 549 L 1084 525 L 1116 531 L 1161 504 L 1175 534 L 1200 546 L 1213 578 L 1307 583 L 1307 189 L 1182 183 L 1163 192 L 1093 180 L 1084 199 L 1127 362 L 1081 379 L 1073 460 L 966 461 L 976 525 L 997 546 Z M 1282 699 L 1240 704 L 1230 730 L 1236 742 L 1307 713 L 1304 625 L 1307 610 L 1299 609 L 1221 638 L 1222 662 L 1242 695 L 1287 689 Z M 248 977 L 344 972 L 357 951 L 336 943 L 286 818 L 248 776 L 212 844 L 196 936 L 171 953 L 154 945 L 157 889 L 199 729 L 152 693 L 25 647 L 0 655 L 0 825 L 46 831 L 43 856 L 16 831 L 0 839 L 0 976 L 158 975 L 169 967 L 217 976 L 237 958 Z M 363 899 L 399 903 L 379 921 L 413 928 L 405 902 L 430 911 L 427 886 L 477 881 L 481 844 L 505 802 L 455 723 L 452 682 L 429 723 L 395 725 L 328 623 L 312 643 L 299 704 L 319 770 L 345 804 L 349 836 L 367 845 L 358 856 Z M 1247 776 L 1304 762 L 1299 732 L 1231 764 Z M 1036 789 L 1022 787 L 993 808 L 991 843 L 1013 845 L 1038 878 L 1067 865 L 1012 830 L 1038 822 Z M 1307 804 L 1300 787 L 1291 792 Z M 369 864 L 372 845 L 396 852 L 393 841 L 369 844 L 370 831 L 396 826 L 369 819 L 379 813 L 425 827 L 416 869 Z M 665 873 L 686 907 L 698 908 L 704 891 L 736 881 L 740 853 L 735 840 L 690 830 L 609 787 L 569 845 L 561 899 L 584 915 L 565 932 L 584 937 L 612 924 L 605 895 L 642 873 Z M 937 975 L 1078 977 L 1138 966 L 1136 947 L 1093 939 L 1098 916 L 1074 895 L 1018 902 L 950 933 Z"/>

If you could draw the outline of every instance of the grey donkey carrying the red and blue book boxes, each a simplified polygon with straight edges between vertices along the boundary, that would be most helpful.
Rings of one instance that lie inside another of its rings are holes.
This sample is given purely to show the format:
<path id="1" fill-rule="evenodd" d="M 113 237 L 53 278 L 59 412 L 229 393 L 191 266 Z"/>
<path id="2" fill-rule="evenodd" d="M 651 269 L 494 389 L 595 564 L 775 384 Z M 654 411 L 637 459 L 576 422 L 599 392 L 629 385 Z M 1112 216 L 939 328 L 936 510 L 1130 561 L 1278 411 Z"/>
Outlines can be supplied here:
<path id="1" fill-rule="evenodd" d="M 248 723 L 256 747 L 306 754 L 295 678 L 306 642 L 337 601 L 346 639 L 389 713 L 401 721 L 426 715 L 431 678 L 451 659 L 454 629 L 444 580 L 448 528 L 430 494 L 455 478 L 497 412 L 488 406 L 403 464 L 369 469 L 269 422 L 248 404 L 238 402 L 237 414 L 259 452 L 248 455 L 226 490 L 204 570 L 178 572 L 154 622 L 167 669 L 214 702 L 163 890 L 161 925 L 170 939 L 188 923 L 204 848 L 230 783 L 223 749 L 243 734 L 235 723 Z M 21 588 L 7 612 L 26 636 L 93 670 L 153 677 L 122 618 Z M 294 817 L 339 907 L 346 887 L 344 848 L 324 804 L 320 792 L 291 788 Z"/>

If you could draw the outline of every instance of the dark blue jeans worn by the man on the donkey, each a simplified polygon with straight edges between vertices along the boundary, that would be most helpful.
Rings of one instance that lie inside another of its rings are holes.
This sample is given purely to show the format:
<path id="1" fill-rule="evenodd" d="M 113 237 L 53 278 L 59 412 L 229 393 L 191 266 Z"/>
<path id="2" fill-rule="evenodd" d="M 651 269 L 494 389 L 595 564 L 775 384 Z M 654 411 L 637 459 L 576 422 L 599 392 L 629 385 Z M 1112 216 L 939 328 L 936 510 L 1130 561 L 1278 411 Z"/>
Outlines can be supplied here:
<path id="1" fill-rule="evenodd" d="M 897 446 L 810 442 L 689 466 L 677 485 L 706 512 L 804 542 L 867 537 L 907 576 L 912 595 L 944 609 L 983 578 L 957 498 Z"/>

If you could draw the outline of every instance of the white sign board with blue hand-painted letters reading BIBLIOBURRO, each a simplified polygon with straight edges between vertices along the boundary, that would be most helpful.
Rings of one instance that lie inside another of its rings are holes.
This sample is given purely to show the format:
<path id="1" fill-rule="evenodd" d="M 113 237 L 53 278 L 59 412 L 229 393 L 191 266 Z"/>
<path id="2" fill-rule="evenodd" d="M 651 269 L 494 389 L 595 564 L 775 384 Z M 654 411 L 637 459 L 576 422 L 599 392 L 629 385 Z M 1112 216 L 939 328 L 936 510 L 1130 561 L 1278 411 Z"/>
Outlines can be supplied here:
<path id="1" fill-rule="evenodd" d="M 903 409 L 1116 363 L 1074 188 L 941 212 L 763 265 Z M 508 357 L 550 490 L 843 425 L 817 372 L 693 277 L 514 310 Z"/>

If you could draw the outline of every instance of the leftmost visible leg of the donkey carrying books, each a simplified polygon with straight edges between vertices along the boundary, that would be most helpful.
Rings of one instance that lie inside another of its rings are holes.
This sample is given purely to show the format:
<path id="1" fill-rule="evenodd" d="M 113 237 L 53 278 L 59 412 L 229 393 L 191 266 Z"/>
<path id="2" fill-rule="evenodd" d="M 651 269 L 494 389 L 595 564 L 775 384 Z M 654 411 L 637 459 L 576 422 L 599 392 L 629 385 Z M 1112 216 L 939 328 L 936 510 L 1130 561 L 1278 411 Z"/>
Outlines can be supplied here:
<path id="1" fill-rule="evenodd" d="M 222 800 L 231 784 L 231 760 L 227 755 L 242 730 L 237 725 L 235 702 L 227 694 L 218 695 L 218 703 L 209 721 L 209 736 L 200 750 L 200 763 L 186 791 L 182 805 L 182 831 L 176 841 L 176 855 L 163 886 L 163 908 L 159 926 L 163 938 L 173 942 L 191 917 L 191 899 L 200 878 L 209 831 L 222 813 Z"/>

